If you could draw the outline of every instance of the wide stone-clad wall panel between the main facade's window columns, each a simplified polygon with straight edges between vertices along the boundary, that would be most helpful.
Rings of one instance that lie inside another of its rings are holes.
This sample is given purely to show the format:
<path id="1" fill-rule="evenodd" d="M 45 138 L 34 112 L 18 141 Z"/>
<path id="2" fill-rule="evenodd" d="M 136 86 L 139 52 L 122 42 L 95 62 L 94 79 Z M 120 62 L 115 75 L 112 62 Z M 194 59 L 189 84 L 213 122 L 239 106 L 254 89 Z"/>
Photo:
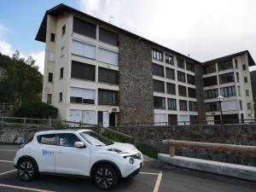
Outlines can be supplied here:
<path id="1" fill-rule="evenodd" d="M 154 122 L 151 46 L 119 32 L 119 123 Z"/>

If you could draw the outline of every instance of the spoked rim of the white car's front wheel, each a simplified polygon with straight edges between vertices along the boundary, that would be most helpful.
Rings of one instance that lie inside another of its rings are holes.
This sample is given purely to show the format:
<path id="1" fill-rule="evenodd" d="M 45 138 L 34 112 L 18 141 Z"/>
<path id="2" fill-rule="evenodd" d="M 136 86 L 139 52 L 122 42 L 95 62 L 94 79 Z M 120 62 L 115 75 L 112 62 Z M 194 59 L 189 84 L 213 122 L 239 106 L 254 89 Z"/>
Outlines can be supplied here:
<path id="1" fill-rule="evenodd" d="M 113 173 L 108 168 L 100 168 L 96 172 L 96 183 L 103 189 L 108 189 L 113 184 Z"/>

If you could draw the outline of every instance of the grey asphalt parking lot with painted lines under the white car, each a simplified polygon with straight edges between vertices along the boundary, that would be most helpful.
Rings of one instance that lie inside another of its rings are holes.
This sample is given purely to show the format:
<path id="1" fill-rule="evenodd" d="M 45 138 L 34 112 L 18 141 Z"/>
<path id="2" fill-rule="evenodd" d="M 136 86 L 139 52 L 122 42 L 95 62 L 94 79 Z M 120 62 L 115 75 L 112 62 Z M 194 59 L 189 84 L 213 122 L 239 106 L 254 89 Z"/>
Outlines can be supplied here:
<path id="1" fill-rule="evenodd" d="M 89 179 L 40 176 L 32 182 L 22 182 L 13 166 L 15 145 L 0 144 L 0 192 L 96 192 Z M 137 177 L 124 179 L 114 192 L 256 192 L 256 183 L 167 166 L 157 160 L 145 162 Z"/>

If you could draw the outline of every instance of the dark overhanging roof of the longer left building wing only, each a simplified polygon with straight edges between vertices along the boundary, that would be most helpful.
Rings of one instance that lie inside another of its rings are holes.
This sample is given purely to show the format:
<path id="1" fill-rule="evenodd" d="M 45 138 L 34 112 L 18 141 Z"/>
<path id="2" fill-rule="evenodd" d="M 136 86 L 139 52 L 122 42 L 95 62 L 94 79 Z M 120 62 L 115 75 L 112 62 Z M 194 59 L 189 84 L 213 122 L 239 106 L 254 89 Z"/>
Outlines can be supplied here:
<path id="1" fill-rule="evenodd" d="M 138 39 L 143 39 L 145 41 L 147 41 L 148 43 L 150 44 L 153 44 L 153 45 L 156 45 L 156 46 L 159 46 L 160 48 L 162 49 L 167 49 L 169 51 L 171 51 L 172 53 L 176 54 L 176 55 L 180 55 L 182 57 L 184 57 L 185 59 L 188 59 L 190 61 L 194 61 L 198 64 L 201 64 L 200 61 L 196 61 L 195 59 L 187 56 L 187 55 L 183 55 L 181 53 L 178 53 L 177 51 L 175 50 L 172 50 L 172 49 L 169 49 L 169 48 L 166 48 L 165 46 L 161 45 L 161 44 L 156 44 L 154 43 L 153 41 L 150 41 L 148 40 L 147 38 L 143 38 L 141 36 L 138 36 L 137 34 L 135 33 L 132 33 L 132 32 L 129 32 L 129 31 L 126 31 L 125 29 L 122 29 L 120 28 L 119 26 L 113 26 L 112 24 L 104 21 L 104 20 L 100 20 L 94 16 L 91 16 L 91 15 L 88 15 L 88 14 L 85 14 L 84 12 L 81 12 L 79 11 L 78 9 L 73 9 L 69 6 L 67 6 L 66 4 L 59 4 L 57 6 L 55 6 L 54 8 L 52 9 L 49 9 L 45 12 L 44 14 L 44 19 L 42 20 L 41 22 L 41 25 L 38 29 L 38 34 L 35 38 L 35 40 L 38 40 L 38 41 L 41 41 L 41 42 L 44 42 L 45 43 L 45 38 L 46 38 L 46 27 L 47 27 L 47 15 L 64 15 L 65 13 L 70 13 L 70 14 L 77 14 L 77 15 L 82 15 L 82 16 L 85 16 L 87 18 L 90 18 L 91 20 L 96 20 L 97 22 L 99 23 L 102 23 L 104 25 L 108 25 L 108 26 L 111 26 L 113 27 L 114 29 L 118 30 L 119 32 L 125 32 L 125 33 L 128 33 L 130 34 L 131 36 L 134 36 L 134 37 L 137 37 Z"/>

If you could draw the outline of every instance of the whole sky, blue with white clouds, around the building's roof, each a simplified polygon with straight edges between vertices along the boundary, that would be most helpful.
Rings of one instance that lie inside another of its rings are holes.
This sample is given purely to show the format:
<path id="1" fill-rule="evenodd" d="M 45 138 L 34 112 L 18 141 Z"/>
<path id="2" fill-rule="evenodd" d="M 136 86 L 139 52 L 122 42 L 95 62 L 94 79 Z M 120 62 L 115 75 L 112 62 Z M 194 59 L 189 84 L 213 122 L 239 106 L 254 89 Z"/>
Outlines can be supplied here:
<path id="1" fill-rule="evenodd" d="M 59 3 L 111 17 L 113 25 L 198 61 L 246 49 L 256 61 L 254 0 L 1 0 L 0 52 L 32 55 L 43 73 L 44 43 L 34 39 L 45 11 Z"/>

